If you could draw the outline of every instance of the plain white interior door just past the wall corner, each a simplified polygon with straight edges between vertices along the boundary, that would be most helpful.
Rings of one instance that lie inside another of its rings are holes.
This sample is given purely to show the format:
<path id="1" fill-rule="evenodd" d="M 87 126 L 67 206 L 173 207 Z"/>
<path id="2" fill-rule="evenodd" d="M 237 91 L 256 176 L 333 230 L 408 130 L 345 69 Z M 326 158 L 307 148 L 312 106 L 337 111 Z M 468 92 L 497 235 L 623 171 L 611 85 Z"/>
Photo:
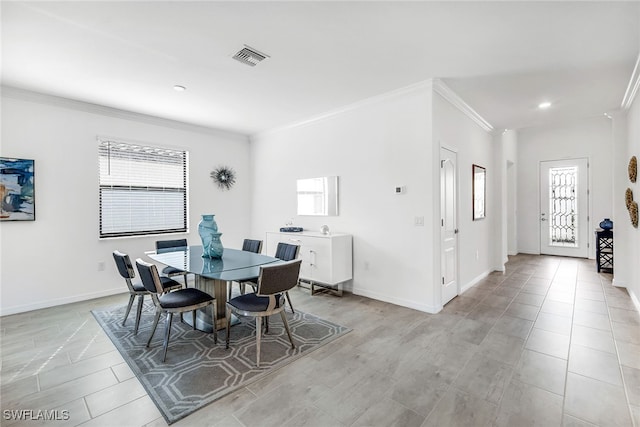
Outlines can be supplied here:
<path id="1" fill-rule="evenodd" d="M 458 295 L 457 155 L 440 148 L 442 305 Z"/>

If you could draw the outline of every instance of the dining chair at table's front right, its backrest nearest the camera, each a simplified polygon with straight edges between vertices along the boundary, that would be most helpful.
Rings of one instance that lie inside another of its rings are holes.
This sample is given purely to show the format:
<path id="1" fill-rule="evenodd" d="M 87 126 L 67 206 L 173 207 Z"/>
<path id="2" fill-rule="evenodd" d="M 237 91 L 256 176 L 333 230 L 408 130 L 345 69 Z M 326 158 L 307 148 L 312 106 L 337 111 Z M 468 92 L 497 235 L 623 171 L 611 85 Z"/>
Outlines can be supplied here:
<path id="1" fill-rule="evenodd" d="M 284 294 L 298 284 L 301 260 L 289 261 L 282 264 L 266 265 L 260 267 L 258 276 L 258 289 L 255 293 L 239 295 L 227 301 L 227 344 L 231 337 L 231 315 L 250 316 L 256 319 L 256 366 L 260 367 L 260 342 L 262 338 L 262 318 L 269 318 L 272 314 L 280 313 L 282 323 L 291 348 L 295 343 L 289 330 L 287 316 L 284 313 Z M 265 320 L 266 320 L 265 319 Z"/>

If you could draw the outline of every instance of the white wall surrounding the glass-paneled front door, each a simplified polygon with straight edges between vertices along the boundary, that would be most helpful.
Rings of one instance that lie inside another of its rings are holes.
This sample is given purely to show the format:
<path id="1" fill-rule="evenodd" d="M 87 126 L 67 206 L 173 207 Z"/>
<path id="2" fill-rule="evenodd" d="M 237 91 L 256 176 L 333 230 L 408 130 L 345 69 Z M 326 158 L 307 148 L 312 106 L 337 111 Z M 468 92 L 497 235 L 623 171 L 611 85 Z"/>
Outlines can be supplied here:
<path id="1" fill-rule="evenodd" d="M 593 230 L 612 217 L 612 124 L 602 116 L 555 127 L 518 132 L 518 251 L 540 253 L 539 164 L 563 158 L 589 159 L 589 257 L 595 257 Z M 614 225 L 615 227 L 615 225 Z"/>

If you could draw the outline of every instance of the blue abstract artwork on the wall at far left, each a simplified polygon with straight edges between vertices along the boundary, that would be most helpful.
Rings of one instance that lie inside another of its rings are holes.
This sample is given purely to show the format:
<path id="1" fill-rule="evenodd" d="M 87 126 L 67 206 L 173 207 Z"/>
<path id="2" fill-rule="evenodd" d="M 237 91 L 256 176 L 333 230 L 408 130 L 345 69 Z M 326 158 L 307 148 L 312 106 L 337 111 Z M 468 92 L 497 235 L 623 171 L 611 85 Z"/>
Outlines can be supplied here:
<path id="1" fill-rule="evenodd" d="M 34 161 L 0 157 L 0 221 L 34 221 Z"/>

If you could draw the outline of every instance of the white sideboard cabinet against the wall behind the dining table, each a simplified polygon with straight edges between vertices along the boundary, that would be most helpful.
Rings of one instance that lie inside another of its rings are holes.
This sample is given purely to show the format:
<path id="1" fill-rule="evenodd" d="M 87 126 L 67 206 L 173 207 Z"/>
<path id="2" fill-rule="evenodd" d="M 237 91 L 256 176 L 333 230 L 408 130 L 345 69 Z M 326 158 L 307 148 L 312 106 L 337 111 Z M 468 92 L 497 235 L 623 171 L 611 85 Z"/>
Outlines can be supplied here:
<path id="1" fill-rule="evenodd" d="M 311 293 L 314 285 L 337 287 L 342 294 L 343 282 L 353 278 L 352 237 L 345 233 L 322 234 L 316 232 L 282 233 L 267 232 L 266 254 L 276 253 L 278 243 L 300 246 L 298 258 L 302 259 L 300 280 L 309 282 Z"/>

